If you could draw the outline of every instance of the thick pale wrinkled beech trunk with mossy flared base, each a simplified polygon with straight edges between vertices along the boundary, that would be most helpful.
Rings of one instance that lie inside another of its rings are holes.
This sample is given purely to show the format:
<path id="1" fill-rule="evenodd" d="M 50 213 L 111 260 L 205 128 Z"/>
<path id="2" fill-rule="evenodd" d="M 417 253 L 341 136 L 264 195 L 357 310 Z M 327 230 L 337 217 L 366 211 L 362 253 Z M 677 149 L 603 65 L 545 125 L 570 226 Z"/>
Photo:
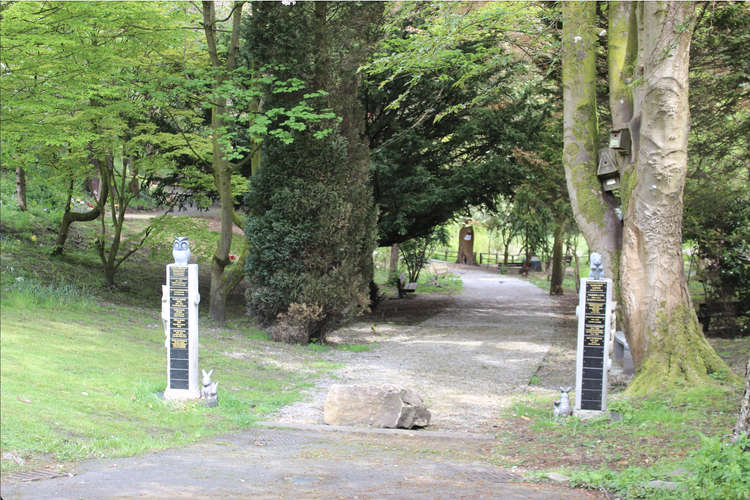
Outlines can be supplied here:
<path id="1" fill-rule="evenodd" d="M 728 369 L 706 341 L 682 260 L 687 174 L 688 60 L 695 6 L 644 2 L 638 11 L 634 168 L 626 181 L 622 302 L 641 394 L 676 381 L 696 384 Z"/>

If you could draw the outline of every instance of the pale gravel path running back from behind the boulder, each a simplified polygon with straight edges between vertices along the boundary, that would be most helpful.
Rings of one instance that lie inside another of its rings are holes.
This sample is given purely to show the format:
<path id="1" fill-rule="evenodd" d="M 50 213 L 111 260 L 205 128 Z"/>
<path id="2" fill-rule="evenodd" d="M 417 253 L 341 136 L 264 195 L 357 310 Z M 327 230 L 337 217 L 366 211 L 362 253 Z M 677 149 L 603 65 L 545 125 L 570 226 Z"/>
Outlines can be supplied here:
<path id="1" fill-rule="evenodd" d="M 327 353 L 329 360 L 345 366 L 271 420 L 321 424 L 332 384 L 393 383 L 422 395 L 432 413 L 431 430 L 492 432 L 499 409 L 529 389 L 550 347 L 560 342 L 560 330 L 570 331 L 570 318 L 556 312 L 554 300 L 526 281 L 476 268 L 457 272 L 464 283 L 458 297 L 420 304 L 423 297 L 417 292 L 384 306 L 391 310 L 385 317 L 405 307 L 441 309 L 428 319 L 416 325 L 376 322 L 374 332 L 372 323 L 359 323 L 331 335 L 333 342 L 374 342 L 376 347 L 356 354 Z"/>

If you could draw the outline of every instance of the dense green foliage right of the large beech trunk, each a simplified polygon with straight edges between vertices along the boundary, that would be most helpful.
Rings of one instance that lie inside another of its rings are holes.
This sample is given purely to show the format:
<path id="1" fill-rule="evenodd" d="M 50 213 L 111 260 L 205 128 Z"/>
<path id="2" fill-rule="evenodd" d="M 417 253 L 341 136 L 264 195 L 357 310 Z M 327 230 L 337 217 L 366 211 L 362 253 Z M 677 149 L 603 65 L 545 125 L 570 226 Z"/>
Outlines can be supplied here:
<path id="1" fill-rule="evenodd" d="M 700 9 L 690 46 L 689 177 L 683 235 L 703 259 L 709 302 L 739 300 L 750 331 L 750 11 L 738 2 Z"/>

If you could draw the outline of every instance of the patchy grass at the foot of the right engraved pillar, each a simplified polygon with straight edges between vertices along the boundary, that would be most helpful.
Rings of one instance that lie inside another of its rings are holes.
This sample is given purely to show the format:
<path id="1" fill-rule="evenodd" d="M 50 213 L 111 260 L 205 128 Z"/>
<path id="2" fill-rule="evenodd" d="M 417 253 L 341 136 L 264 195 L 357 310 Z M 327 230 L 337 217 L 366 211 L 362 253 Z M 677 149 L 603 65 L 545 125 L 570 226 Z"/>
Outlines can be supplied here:
<path id="1" fill-rule="evenodd" d="M 612 418 L 561 421 L 552 416 L 554 397 L 526 396 L 503 418 L 492 461 L 560 471 L 575 486 L 621 498 L 744 499 L 750 495 L 750 455 L 722 444 L 736 421 L 740 394 L 729 385 L 642 399 L 617 394 L 608 402 Z M 675 489 L 659 488 L 660 481 Z M 701 490 L 708 493 L 701 496 Z"/>

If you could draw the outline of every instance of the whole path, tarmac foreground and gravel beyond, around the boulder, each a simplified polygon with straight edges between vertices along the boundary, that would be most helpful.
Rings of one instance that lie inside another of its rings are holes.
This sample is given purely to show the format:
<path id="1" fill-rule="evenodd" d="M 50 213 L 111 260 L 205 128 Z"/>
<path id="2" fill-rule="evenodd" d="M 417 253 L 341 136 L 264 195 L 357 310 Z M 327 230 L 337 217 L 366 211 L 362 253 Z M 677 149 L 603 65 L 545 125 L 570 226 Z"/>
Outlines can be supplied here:
<path id="1" fill-rule="evenodd" d="M 458 272 L 460 297 L 390 300 L 371 322 L 336 332 L 336 342 L 375 346 L 322 353 L 343 367 L 265 428 L 84 462 L 73 477 L 4 484 L 3 498 L 599 498 L 492 465 L 502 407 L 532 390 L 545 355 L 569 351 L 560 345 L 574 324 L 529 283 Z M 556 385 L 556 376 L 545 378 Z M 331 384 L 385 382 L 423 395 L 433 415 L 428 430 L 321 425 Z"/>

